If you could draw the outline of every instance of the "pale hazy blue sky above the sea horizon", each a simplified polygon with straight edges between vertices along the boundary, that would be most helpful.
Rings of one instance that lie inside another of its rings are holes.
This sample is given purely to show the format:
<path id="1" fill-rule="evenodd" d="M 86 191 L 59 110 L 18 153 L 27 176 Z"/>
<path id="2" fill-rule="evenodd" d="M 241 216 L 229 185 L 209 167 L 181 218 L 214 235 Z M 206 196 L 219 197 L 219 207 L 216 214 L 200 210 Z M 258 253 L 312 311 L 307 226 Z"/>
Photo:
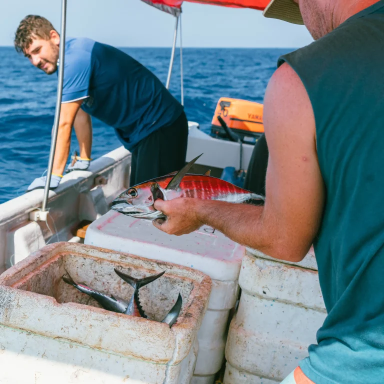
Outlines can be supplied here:
<path id="1" fill-rule="evenodd" d="M 40 14 L 59 29 L 60 0 L 1 0 L 0 45 L 12 45 L 19 21 Z M 174 21 L 140 0 L 68 0 L 67 35 L 116 46 L 170 46 Z M 183 46 L 299 47 L 305 27 L 262 17 L 253 9 L 184 3 Z"/>

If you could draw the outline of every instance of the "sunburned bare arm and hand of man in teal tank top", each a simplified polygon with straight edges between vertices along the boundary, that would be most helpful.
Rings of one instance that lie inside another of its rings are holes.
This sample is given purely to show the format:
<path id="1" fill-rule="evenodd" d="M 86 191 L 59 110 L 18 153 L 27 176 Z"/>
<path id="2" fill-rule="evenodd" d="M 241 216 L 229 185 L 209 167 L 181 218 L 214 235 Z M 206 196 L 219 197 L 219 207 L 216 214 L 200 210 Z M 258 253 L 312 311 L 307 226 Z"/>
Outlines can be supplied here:
<path id="1" fill-rule="evenodd" d="M 277 69 L 268 84 L 263 119 L 269 149 L 263 207 L 186 198 L 159 200 L 155 207 L 168 218 L 154 224 L 167 233 L 182 234 L 204 223 L 270 256 L 301 260 L 321 220 L 323 183 L 312 107 L 301 80 L 287 64 Z"/>

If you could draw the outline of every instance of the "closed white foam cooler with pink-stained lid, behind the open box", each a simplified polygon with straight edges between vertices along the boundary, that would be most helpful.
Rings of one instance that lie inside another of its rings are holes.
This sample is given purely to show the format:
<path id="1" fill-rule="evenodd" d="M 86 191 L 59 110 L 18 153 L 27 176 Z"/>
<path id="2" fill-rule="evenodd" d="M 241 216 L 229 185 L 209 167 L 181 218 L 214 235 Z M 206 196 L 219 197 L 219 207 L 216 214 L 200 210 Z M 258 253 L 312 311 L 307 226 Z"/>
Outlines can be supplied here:
<path id="1" fill-rule="evenodd" d="M 208 226 L 182 236 L 168 235 L 151 221 L 109 211 L 86 230 L 86 244 L 185 265 L 208 274 L 212 290 L 198 332 L 193 384 L 211 384 L 220 369 L 229 310 L 238 296 L 237 278 L 245 248 Z"/>

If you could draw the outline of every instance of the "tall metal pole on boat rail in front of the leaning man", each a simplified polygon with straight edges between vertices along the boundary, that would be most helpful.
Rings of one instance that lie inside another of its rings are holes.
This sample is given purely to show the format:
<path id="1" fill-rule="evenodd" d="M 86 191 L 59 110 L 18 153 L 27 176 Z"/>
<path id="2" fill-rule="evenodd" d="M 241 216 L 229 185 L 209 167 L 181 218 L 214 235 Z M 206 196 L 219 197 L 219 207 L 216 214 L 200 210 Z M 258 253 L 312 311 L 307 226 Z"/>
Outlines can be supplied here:
<path id="1" fill-rule="evenodd" d="M 42 206 L 41 206 L 42 211 L 46 210 L 46 204 L 48 202 L 50 176 L 51 176 L 52 167 L 53 167 L 54 150 L 56 148 L 58 121 L 60 118 L 62 82 L 63 82 L 63 77 L 64 77 L 65 18 L 66 18 L 65 16 L 66 16 L 66 0 L 61 0 L 60 48 L 59 48 L 59 52 L 58 52 L 58 81 L 57 81 L 56 109 L 54 111 L 52 137 L 50 140 L 48 169 L 46 172 L 44 198 L 42 200 Z"/>

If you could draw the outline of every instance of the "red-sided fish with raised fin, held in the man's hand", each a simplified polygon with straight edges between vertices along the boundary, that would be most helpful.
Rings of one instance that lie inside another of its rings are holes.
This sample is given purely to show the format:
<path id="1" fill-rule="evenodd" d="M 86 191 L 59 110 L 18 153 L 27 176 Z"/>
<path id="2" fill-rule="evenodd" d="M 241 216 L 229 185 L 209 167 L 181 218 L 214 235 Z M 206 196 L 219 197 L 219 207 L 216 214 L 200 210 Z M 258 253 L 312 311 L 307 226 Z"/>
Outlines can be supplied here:
<path id="1" fill-rule="evenodd" d="M 201 154 L 189 161 L 177 173 L 132 186 L 112 201 L 111 208 L 132 217 L 153 220 L 166 217 L 153 207 L 157 198 L 171 200 L 176 197 L 194 197 L 236 203 L 260 204 L 263 202 L 264 197 L 220 178 L 212 177 L 209 171 L 205 174 L 187 173 Z"/>

